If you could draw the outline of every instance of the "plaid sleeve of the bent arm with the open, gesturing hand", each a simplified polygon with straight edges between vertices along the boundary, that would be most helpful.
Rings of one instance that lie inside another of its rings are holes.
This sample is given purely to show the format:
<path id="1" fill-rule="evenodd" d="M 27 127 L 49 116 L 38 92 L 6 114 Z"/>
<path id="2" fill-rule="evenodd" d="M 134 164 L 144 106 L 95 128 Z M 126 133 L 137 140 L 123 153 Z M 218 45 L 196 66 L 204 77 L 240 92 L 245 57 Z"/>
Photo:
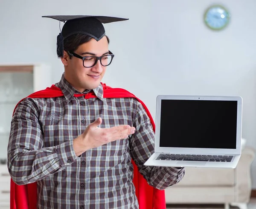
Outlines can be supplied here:
<path id="1" fill-rule="evenodd" d="M 12 117 L 8 143 L 8 169 L 16 184 L 44 179 L 77 159 L 73 139 L 57 146 L 43 147 L 43 138 L 38 108 L 23 100 Z"/>

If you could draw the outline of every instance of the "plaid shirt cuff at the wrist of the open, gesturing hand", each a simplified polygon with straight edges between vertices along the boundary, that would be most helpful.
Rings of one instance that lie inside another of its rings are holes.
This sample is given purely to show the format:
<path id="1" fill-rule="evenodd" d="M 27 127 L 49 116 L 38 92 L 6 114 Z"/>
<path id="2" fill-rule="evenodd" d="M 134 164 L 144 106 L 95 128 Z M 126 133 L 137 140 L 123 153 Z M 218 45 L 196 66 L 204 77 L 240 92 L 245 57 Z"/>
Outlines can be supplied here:
<path id="1" fill-rule="evenodd" d="M 56 146 L 61 167 L 72 164 L 78 157 L 73 148 L 73 139 Z"/>

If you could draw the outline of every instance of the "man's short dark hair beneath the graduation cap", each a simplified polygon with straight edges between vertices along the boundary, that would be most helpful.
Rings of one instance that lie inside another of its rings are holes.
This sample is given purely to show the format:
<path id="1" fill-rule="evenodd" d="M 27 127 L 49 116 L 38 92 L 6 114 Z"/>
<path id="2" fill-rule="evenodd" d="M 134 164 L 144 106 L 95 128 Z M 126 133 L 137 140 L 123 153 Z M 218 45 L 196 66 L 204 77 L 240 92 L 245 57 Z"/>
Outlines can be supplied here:
<path id="1" fill-rule="evenodd" d="M 108 40 L 108 44 L 109 44 L 109 38 L 108 36 L 106 36 L 107 40 Z M 84 34 L 74 34 L 74 35 L 70 35 L 69 37 L 64 39 L 64 50 L 65 51 L 70 51 L 70 52 L 74 52 L 76 51 L 76 49 L 78 49 L 78 47 L 81 44 L 85 44 L 87 42 L 89 42 L 92 39 L 92 37 L 90 37 L 89 35 L 84 35 Z M 72 56 L 70 55 L 70 58 Z"/>

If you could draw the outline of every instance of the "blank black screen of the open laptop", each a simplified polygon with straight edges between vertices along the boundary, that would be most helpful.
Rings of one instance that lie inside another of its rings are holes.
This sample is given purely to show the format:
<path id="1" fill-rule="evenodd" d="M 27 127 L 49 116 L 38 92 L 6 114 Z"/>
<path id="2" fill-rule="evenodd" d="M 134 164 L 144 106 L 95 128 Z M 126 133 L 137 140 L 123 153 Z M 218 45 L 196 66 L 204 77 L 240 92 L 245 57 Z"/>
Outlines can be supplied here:
<path id="1" fill-rule="evenodd" d="M 237 101 L 161 101 L 160 147 L 236 149 Z"/>

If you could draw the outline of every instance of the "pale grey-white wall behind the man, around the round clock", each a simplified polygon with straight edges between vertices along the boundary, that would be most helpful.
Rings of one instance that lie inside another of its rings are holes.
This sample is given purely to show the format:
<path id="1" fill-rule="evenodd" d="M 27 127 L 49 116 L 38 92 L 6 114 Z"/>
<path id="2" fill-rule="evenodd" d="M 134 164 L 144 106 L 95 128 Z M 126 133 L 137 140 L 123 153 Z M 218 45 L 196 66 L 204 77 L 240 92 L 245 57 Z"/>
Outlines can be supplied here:
<path id="1" fill-rule="evenodd" d="M 203 23 L 204 11 L 221 1 L 0 0 L 0 64 L 50 64 L 52 82 L 58 82 L 63 72 L 55 52 L 59 23 L 41 16 L 127 17 L 105 25 L 115 58 L 103 82 L 136 94 L 153 117 L 158 94 L 242 96 L 242 137 L 256 148 L 256 1 L 222 2 L 232 21 L 213 32 Z M 256 160 L 254 189 L 255 174 Z"/>

